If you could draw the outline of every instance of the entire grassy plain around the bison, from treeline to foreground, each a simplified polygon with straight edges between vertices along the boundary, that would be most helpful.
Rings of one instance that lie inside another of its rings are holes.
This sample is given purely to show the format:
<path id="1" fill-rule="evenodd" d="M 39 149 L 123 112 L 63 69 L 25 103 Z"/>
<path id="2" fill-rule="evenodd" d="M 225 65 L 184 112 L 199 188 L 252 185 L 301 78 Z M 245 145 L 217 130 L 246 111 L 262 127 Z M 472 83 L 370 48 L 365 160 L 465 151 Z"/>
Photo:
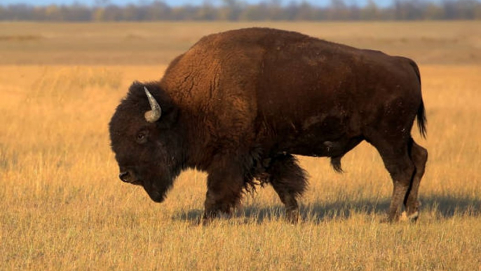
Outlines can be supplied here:
<path id="1" fill-rule="evenodd" d="M 429 160 L 418 223 L 379 223 L 392 183 L 367 143 L 344 174 L 300 158 L 310 187 L 298 225 L 271 187 L 198 226 L 204 173 L 183 173 L 163 204 L 118 180 L 107 124 L 129 84 L 245 23 L 1 23 L 0 270 L 481 270 L 481 23 L 257 25 L 419 61 L 428 138 L 413 135 Z"/>

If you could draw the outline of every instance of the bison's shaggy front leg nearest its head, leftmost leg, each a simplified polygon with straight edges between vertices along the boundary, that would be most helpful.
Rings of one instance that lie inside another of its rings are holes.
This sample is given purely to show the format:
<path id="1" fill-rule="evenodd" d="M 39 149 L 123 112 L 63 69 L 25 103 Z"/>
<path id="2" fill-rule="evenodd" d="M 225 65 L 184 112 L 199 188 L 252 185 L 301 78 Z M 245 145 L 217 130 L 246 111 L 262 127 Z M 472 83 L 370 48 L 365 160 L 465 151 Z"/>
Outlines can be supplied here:
<path id="1" fill-rule="evenodd" d="M 215 167 L 209 171 L 207 194 L 205 197 L 205 221 L 221 213 L 231 215 L 233 207 L 241 200 L 243 190 L 243 173 L 238 164 Z"/>

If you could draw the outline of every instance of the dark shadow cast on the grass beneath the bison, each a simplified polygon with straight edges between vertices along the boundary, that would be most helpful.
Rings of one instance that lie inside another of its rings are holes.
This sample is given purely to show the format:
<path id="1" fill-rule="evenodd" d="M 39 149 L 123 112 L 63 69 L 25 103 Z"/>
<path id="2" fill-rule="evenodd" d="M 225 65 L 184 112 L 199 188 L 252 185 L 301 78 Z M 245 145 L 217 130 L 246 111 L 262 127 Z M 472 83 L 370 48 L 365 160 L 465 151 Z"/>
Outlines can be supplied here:
<path id="1" fill-rule="evenodd" d="M 436 218 L 452 218 L 454 216 L 481 216 L 481 199 L 463 197 L 420 197 L 421 217 L 423 213 L 434 213 Z M 384 216 L 389 209 L 390 199 L 381 201 L 334 201 L 314 202 L 302 205 L 300 214 L 303 221 L 322 223 L 323 221 L 347 219 L 353 213 L 363 213 L 368 216 Z M 244 206 L 236 211 L 235 218 L 245 218 L 245 221 L 262 223 L 264 220 L 283 219 L 284 207 L 280 204 L 273 206 Z M 175 220 L 187 220 L 196 223 L 203 215 L 203 210 L 193 209 L 187 213 L 177 213 L 172 216 Z"/>

